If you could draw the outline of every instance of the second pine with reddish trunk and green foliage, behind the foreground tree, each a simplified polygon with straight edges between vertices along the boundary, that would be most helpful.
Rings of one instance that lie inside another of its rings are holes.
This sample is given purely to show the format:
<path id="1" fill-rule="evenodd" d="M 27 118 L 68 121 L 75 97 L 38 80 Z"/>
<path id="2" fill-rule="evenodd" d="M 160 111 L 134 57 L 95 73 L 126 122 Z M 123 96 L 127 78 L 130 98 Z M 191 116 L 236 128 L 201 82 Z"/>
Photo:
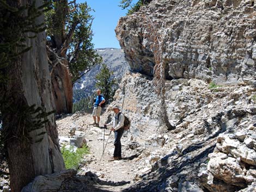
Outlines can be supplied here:
<path id="1" fill-rule="evenodd" d="M 101 63 L 92 44 L 93 11 L 87 3 L 44 0 L 46 13 L 48 63 L 57 113 L 71 113 L 72 86 L 77 79 Z"/>

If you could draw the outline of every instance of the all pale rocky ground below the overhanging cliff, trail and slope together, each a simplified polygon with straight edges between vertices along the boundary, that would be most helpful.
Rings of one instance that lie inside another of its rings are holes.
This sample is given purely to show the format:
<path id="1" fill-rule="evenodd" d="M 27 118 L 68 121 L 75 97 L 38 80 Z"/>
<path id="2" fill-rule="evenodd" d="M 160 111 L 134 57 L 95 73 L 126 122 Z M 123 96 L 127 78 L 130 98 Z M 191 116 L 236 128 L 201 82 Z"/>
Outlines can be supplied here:
<path id="1" fill-rule="evenodd" d="M 255 191 L 256 88 L 210 89 L 199 79 L 167 80 L 166 87 L 173 131 L 159 126 L 159 99 L 151 78 L 140 73 L 123 78 L 114 98 L 132 125 L 122 138 L 120 161 L 107 162 L 112 134 L 100 162 L 104 132 L 89 125 L 90 114 L 58 120 L 60 143 L 75 130 L 91 148 L 82 171 L 64 179 L 59 191 Z M 107 110 L 101 122 L 112 115 Z"/>

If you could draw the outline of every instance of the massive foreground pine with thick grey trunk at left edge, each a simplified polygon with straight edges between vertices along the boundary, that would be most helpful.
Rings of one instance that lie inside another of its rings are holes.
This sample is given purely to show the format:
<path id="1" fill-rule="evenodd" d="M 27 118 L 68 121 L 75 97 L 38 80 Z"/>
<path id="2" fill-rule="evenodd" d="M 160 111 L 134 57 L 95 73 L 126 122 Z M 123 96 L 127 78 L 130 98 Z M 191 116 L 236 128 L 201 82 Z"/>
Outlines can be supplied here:
<path id="1" fill-rule="evenodd" d="M 41 0 L 0 0 L 0 148 L 14 192 L 38 175 L 65 169 L 52 113 L 43 8 Z"/>

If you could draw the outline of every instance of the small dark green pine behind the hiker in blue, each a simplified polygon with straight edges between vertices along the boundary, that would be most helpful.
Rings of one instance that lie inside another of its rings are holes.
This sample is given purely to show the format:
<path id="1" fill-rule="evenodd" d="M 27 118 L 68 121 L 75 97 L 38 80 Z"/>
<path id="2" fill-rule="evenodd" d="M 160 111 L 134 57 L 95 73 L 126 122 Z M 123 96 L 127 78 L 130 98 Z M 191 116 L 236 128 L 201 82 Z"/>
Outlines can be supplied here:
<path id="1" fill-rule="evenodd" d="M 110 71 L 106 64 L 102 65 L 101 71 L 96 75 L 96 89 L 100 89 L 106 99 L 106 104 L 113 100 L 115 90 L 117 90 L 117 81 L 111 77 L 113 71 Z"/>

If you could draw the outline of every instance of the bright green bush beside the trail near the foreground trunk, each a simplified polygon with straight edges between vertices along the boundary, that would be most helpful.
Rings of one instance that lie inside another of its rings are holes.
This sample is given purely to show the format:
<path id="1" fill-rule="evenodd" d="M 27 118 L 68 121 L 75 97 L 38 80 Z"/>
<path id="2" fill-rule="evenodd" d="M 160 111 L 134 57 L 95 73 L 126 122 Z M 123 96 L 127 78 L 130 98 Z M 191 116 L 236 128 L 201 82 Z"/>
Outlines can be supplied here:
<path id="1" fill-rule="evenodd" d="M 89 148 L 87 145 L 84 145 L 82 148 L 77 148 L 77 150 L 75 151 L 74 146 L 71 145 L 70 148 L 66 148 L 66 146 L 63 146 L 61 151 L 66 169 L 77 170 L 80 163 L 82 162 L 84 154 L 89 153 Z"/>

